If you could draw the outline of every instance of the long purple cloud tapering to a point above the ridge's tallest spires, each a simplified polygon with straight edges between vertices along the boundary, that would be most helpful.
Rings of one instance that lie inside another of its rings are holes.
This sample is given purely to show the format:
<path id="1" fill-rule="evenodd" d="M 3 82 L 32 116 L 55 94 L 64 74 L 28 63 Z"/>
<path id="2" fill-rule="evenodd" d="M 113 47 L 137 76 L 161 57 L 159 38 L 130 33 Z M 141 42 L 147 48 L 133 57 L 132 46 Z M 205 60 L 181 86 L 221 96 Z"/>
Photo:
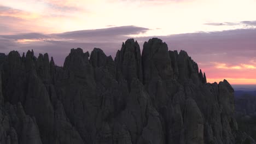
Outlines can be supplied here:
<path id="1" fill-rule="evenodd" d="M 72 31 L 65 33 L 43 34 L 43 33 L 21 33 L 0 35 L 0 39 L 14 40 L 18 43 L 34 43 L 45 41 L 54 43 L 55 41 L 66 41 L 72 43 L 109 43 L 122 41 L 129 38 L 129 35 L 145 33 L 148 28 L 137 26 L 121 26 L 102 29 L 89 29 L 83 31 Z"/>

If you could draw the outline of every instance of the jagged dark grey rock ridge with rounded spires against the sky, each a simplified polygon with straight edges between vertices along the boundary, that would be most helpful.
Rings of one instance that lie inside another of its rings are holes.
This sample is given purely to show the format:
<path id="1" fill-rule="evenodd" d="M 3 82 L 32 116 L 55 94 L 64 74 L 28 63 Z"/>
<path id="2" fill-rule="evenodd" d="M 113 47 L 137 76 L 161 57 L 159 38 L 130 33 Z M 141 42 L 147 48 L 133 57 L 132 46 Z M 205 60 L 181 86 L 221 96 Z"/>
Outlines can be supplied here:
<path id="1" fill-rule="evenodd" d="M 72 49 L 0 55 L 0 143 L 255 143 L 238 130 L 234 90 L 207 83 L 187 52 L 128 39 L 115 59 Z"/>

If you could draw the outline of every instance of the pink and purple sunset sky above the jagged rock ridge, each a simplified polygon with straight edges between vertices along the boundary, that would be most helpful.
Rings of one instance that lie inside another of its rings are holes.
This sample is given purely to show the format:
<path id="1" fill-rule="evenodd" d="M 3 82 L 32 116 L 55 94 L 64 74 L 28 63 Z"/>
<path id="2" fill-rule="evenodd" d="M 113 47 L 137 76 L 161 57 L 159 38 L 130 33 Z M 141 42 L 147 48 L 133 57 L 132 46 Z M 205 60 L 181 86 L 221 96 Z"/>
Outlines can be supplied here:
<path id="1" fill-rule="evenodd" d="M 63 65 L 70 49 L 107 55 L 128 38 L 158 37 L 185 50 L 208 82 L 256 84 L 256 0 L 0 0 L 0 52 L 48 52 Z"/>

